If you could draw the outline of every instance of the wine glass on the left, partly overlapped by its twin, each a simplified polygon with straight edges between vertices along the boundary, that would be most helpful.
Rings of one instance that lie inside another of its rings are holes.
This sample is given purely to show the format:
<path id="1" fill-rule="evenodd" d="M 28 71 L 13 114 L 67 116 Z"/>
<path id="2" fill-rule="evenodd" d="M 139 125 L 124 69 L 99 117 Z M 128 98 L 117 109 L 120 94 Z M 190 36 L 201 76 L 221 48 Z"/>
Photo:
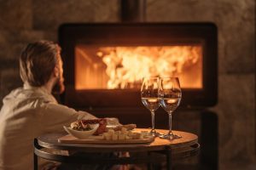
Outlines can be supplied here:
<path id="1" fill-rule="evenodd" d="M 156 111 L 159 106 L 159 98 L 158 98 L 158 88 L 159 88 L 159 77 L 144 77 L 143 85 L 141 88 L 141 98 L 143 105 L 148 108 L 151 112 L 151 121 L 152 121 L 152 129 L 150 134 L 153 136 L 159 136 L 159 133 L 156 133 L 154 130 L 154 111 Z"/>

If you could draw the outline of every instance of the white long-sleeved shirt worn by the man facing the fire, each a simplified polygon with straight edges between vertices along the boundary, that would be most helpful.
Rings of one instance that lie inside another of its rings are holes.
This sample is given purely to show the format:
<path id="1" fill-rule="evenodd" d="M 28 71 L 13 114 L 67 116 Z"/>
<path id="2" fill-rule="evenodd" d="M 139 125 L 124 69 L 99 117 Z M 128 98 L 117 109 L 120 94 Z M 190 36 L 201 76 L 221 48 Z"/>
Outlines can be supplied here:
<path id="1" fill-rule="evenodd" d="M 44 134 L 63 131 L 78 118 L 95 116 L 57 104 L 45 88 L 13 90 L 3 99 L 0 111 L 0 170 L 33 168 L 33 139 Z"/>

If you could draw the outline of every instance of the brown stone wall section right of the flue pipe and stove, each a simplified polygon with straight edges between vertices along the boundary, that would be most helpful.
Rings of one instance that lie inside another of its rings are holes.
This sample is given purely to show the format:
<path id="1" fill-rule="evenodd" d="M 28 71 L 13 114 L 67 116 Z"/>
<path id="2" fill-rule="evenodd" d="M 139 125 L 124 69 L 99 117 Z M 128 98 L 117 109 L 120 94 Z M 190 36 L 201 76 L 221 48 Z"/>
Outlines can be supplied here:
<path id="1" fill-rule="evenodd" d="M 218 26 L 219 167 L 255 159 L 253 0 L 148 0 L 148 21 L 212 21 Z"/>

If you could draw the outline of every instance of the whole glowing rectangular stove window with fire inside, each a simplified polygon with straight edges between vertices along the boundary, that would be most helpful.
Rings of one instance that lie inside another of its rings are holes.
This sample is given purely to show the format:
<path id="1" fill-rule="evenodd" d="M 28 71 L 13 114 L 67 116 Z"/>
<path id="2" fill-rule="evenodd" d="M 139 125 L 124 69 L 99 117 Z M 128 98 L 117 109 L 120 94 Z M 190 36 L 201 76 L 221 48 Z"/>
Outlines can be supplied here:
<path id="1" fill-rule="evenodd" d="M 202 88 L 202 48 L 193 46 L 75 48 L 75 88 L 140 88 L 143 77 L 179 77 Z"/>

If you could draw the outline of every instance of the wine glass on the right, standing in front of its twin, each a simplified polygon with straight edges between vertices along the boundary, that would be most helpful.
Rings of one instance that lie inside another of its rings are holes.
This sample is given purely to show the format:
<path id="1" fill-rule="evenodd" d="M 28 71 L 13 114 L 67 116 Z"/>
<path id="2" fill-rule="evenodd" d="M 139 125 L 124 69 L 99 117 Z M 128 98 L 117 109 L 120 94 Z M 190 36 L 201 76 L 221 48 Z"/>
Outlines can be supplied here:
<path id="1" fill-rule="evenodd" d="M 179 139 L 181 136 L 172 133 L 172 112 L 177 109 L 182 99 L 178 77 L 161 77 L 159 87 L 160 105 L 169 115 L 169 132 L 161 135 L 161 139 Z"/>

